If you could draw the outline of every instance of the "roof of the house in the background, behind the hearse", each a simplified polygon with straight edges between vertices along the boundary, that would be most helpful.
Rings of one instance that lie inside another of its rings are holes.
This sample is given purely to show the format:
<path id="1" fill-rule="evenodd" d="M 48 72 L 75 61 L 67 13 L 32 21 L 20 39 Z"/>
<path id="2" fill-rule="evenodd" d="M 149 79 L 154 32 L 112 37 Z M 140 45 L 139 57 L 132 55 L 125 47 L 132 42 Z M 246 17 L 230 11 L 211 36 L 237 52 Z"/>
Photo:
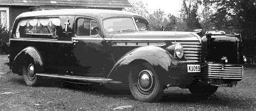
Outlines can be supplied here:
<path id="1" fill-rule="evenodd" d="M 75 7 L 100 7 L 124 8 L 131 7 L 127 0 L 0 0 L 4 6 L 75 6 Z"/>

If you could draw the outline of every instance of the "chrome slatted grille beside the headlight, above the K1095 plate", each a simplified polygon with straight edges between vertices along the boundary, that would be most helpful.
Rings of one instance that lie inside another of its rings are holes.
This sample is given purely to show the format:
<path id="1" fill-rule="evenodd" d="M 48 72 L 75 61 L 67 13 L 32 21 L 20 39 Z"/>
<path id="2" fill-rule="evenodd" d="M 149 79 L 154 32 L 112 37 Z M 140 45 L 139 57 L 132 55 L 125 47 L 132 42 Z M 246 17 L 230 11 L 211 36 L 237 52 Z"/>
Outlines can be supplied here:
<path id="1" fill-rule="evenodd" d="M 189 62 L 201 62 L 201 44 L 199 41 L 177 41 L 183 46 L 184 57 Z"/>

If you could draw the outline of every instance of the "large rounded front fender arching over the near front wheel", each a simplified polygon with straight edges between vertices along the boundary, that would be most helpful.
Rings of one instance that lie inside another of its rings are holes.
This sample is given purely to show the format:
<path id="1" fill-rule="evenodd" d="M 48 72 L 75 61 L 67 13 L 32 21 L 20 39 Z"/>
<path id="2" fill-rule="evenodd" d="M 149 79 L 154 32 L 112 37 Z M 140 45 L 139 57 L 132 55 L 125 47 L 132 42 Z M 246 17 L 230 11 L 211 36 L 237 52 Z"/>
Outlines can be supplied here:
<path id="1" fill-rule="evenodd" d="M 165 81 L 168 77 L 169 67 L 172 64 L 173 57 L 167 51 L 157 46 L 144 46 L 127 52 L 120 60 L 116 62 L 108 75 L 108 79 L 121 81 L 128 86 L 128 76 L 131 65 L 138 62 L 148 62 L 158 74 L 160 81 Z"/>

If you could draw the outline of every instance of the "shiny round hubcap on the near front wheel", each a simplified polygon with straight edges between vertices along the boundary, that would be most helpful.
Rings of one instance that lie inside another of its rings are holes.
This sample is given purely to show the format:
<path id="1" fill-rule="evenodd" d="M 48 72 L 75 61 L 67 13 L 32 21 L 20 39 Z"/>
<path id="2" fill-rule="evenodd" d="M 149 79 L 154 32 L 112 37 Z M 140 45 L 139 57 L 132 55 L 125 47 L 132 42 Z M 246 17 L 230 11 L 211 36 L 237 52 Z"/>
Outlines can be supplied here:
<path id="1" fill-rule="evenodd" d="M 150 70 L 143 70 L 139 74 L 139 88 L 143 91 L 149 91 L 153 85 L 153 76 Z"/>

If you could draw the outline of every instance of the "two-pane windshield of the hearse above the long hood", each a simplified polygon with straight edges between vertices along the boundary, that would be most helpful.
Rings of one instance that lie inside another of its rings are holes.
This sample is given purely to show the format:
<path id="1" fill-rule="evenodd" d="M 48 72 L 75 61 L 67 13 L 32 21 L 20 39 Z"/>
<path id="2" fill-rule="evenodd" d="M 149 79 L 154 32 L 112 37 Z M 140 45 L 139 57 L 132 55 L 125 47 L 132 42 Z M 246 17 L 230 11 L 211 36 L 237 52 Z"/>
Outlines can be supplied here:
<path id="1" fill-rule="evenodd" d="M 103 21 L 104 29 L 107 33 L 122 33 L 133 31 L 148 31 L 148 23 L 141 18 L 135 18 L 136 26 L 132 18 L 109 18 Z"/>

